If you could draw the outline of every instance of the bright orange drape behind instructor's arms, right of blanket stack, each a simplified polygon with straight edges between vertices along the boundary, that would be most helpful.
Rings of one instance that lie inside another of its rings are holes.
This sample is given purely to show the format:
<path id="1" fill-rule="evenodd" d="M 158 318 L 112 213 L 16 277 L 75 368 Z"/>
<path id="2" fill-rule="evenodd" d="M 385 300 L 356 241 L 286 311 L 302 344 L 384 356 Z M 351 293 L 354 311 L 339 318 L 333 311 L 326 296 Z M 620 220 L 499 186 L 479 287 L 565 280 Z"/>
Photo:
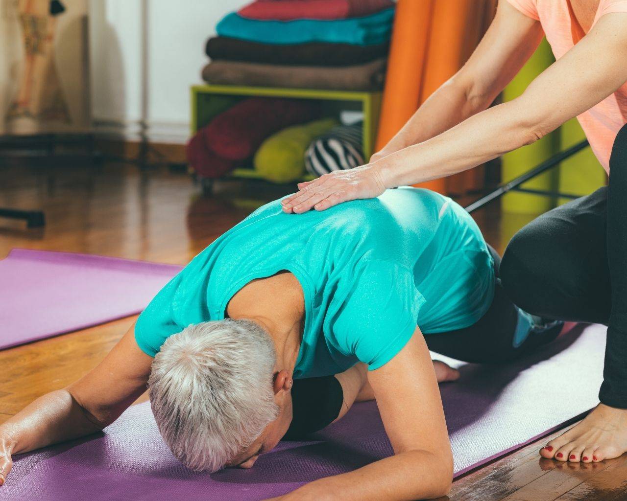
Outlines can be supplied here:
<path id="1" fill-rule="evenodd" d="M 468 60 L 492 22 L 495 7 L 495 0 L 398 1 L 377 150 Z M 419 186 L 461 193 L 482 185 L 480 166 Z"/>

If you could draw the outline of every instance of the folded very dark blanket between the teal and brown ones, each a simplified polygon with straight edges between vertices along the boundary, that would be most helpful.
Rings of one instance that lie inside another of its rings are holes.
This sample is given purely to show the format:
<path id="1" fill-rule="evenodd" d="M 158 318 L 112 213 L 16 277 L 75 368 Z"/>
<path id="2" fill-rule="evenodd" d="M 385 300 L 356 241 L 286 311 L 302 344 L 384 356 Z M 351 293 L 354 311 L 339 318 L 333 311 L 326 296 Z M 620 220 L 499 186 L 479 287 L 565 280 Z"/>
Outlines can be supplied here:
<path id="1" fill-rule="evenodd" d="M 361 65 L 387 56 L 389 43 L 354 45 L 349 43 L 267 44 L 216 36 L 209 38 L 207 55 L 214 60 L 247 61 L 271 65 L 347 66 Z"/>

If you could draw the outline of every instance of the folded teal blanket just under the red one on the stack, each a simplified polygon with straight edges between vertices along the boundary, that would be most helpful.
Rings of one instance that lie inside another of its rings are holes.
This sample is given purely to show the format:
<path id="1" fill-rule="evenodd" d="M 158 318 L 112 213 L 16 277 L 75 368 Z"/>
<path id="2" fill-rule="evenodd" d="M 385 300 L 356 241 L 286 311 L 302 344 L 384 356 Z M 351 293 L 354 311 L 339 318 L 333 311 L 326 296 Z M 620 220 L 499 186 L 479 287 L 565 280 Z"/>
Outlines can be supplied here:
<path id="1" fill-rule="evenodd" d="M 270 44 L 330 42 L 374 45 L 389 39 L 393 19 L 394 8 L 362 18 L 333 21 L 258 21 L 231 13 L 221 19 L 216 31 L 219 36 Z"/>

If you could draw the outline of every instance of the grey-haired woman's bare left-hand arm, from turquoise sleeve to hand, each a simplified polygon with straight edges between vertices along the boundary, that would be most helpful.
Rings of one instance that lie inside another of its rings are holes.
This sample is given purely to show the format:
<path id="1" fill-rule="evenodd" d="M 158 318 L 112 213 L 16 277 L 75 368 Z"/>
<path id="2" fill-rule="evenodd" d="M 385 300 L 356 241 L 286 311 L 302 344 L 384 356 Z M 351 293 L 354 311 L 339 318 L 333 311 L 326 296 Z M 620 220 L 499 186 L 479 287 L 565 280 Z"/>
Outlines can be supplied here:
<path id="1" fill-rule="evenodd" d="M 134 326 L 90 373 L 29 404 L 0 426 L 0 485 L 11 455 L 102 430 L 144 391 L 152 357 L 135 342 Z"/>

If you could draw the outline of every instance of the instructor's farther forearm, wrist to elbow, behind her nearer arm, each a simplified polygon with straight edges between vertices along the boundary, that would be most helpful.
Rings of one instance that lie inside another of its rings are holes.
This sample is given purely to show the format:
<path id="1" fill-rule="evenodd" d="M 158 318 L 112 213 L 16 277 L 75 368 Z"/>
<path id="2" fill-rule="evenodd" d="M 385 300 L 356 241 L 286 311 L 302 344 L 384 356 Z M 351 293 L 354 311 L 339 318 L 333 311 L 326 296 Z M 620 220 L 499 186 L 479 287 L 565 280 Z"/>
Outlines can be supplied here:
<path id="1" fill-rule="evenodd" d="M 462 83 L 459 76 L 453 76 L 424 101 L 403 128 L 373 155 L 372 160 L 431 139 L 485 110 L 494 100 L 492 95 L 472 93 L 470 85 Z"/>

